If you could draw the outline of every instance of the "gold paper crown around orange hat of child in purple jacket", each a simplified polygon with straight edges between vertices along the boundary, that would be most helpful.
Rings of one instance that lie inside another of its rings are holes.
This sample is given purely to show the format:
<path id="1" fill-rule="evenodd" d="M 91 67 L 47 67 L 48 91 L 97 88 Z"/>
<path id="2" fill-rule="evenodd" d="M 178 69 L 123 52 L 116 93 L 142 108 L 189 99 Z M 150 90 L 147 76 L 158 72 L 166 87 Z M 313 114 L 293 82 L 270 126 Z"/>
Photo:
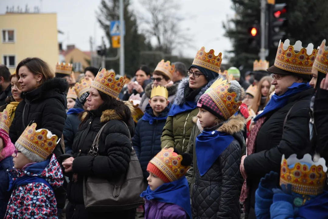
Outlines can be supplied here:
<path id="1" fill-rule="evenodd" d="M 183 177 L 190 168 L 190 166 L 181 165 L 181 155 L 173 153 L 173 147 L 163 148 L 150 161 L 150 163 L 154 164 L 170 180 L 170 182 Z"/>

